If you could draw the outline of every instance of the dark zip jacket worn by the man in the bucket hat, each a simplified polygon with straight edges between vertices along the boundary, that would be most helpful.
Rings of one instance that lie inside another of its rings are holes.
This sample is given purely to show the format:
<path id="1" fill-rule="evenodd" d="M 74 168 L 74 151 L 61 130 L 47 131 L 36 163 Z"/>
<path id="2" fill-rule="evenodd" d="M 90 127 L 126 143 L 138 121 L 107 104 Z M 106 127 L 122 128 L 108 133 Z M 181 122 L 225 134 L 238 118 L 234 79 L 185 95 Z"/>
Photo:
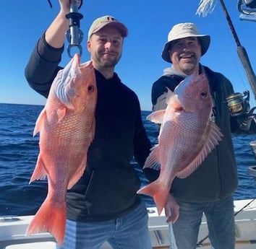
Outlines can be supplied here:
<path id="1" fill-rule="evenodd" d="M 231 132 L 239 133 L 236 118 L 231 118 L 226 105 L 226 97 L 234 92 L 231 82 L 222 74 L 214 72 L 203 66 L 210 84 L 210 90 L 216 103 L 216 124 L 221 128 L 223 139 L 213 149 L 202 165 L 185 179 L 175 178 L 171 193 L 183 201 L 216 201 L 220 198 L 230 196 L 237 188 L 237 169 L 234 157 L 234 148 Z M 178 75 L 163 75 L 153 83 L 152 103 L 153 109 L 159 110 L 163 107 L 166 87 L 174 91 L 184 77 Z M 255 125 L 254 125 L 255 126 Z M 155 170 L 145 170 L 150 180 L 157 177 Z"/>

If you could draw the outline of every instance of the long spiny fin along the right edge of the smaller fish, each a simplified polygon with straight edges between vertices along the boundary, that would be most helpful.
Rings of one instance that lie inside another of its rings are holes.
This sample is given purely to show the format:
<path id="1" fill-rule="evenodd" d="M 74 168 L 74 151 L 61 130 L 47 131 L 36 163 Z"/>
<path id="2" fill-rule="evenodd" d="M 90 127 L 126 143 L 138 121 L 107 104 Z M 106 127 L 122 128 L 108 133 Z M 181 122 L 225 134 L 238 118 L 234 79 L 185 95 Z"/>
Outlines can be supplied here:
<path id="1" fill-rule="evenodd" d="M 189 163 L 187 167 L 184 168 L 184 170 L 177 173 L 178 178 L 187 178 L 189 175 L 194 172 L 197 167 L 199 167 L 202 162 L 205 160 L 205 158 L 208 156 L 208 154 L 218 145 L 218 141 L 221 141 L 221 137 L 223 134 L 220 131 L 220 128 L 216 125 L 216 123 L 210 122 L 210 131 L 208 139 L 205 141 L 205 144 L 203 145 L 200 153 L 197 154 L 197 157 L 195 157 L 192 162 Z"/>

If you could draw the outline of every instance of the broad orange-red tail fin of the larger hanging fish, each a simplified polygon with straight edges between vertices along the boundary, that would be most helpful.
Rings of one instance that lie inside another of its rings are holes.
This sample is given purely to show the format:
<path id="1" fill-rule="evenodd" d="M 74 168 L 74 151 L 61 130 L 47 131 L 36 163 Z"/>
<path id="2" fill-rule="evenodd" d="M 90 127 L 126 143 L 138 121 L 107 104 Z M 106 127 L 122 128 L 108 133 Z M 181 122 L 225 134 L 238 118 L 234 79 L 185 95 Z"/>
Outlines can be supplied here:
<path id="1" fill-rule="evenodd" d="M 57 243 L 62 245 L 66 229 L 66 209 L 66 202 L 56 205 L 46 198 L 27 227 L 26 236 L 38 232 L 50 232 Z"/>

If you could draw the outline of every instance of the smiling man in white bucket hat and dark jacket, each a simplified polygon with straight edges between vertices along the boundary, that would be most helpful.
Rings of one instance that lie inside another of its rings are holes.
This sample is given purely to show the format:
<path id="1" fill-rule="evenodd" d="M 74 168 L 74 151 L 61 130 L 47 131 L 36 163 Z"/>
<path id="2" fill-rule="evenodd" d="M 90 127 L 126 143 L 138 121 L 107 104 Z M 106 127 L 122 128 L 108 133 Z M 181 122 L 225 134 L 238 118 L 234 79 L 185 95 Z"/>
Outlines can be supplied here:
<path id="1" fill-rule="evenodd" d="M 200 35 L 195 24 L 186 22 L 174 25 L 162 52 L 163 60 L 172 65 L 163 70 L 163 75 L 152 87 L 153 110 L 165 109 L 166 87 L 174 91 L 188 75 L 204 72 L 212 94 L 212 121 L 216 122 L 223 134 L 218 147 L 192 175 L 185 179 L 175 178 L 171 185 L 171 196 L 179 207 L 170 198 L 166 204 L 166 217 L 169 222 L 176 220 L 172 229 L 179 249 L 197 247 L 203 213 L 208 221 L 213 248 L 234 249 L 233 193 L 237 188 L 237 172 L 231 132 L 239 131 L 239 126 L 237 118 L 231 118 L 225 104 L 226 97 L 233 93 L 231 82 L 222 74 L 200 64 L 200 58 L 208 51 L 209 45 L 210 36 Z M 150 174 L 154 180 L 152 170 Z"/>

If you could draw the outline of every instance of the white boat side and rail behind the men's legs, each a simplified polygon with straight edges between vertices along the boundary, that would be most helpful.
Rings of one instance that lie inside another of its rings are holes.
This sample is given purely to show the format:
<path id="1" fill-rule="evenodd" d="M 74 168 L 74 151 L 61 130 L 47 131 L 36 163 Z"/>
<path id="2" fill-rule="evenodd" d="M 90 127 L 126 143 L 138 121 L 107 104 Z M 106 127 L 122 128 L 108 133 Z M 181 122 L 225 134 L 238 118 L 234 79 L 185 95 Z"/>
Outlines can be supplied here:
<path id="1" fill-rule="evenodd" d="M 249 205 L 247 206 L 247 204 Z M 244 208 L 244 206 L 246 207 Z M 238 211 L 239 214 L 236 214 Z M 235 201 L 234 213 L 236 214 L 236 248 L 256 248 L 256 201 L 252 199 Z M 163 214 L 158 217 L 155 207 L 148 208 L 148 216 L 148 227 L 153 248 L 168 248 L 169 238 L 166 217 Z M 54 237 L 47 232 L 25 237 L 25 231 L 31 219 L 33 219 L 33 216 L 0 217 L 0 249 L 55 248 Z M 205 217 L 203 217 L 198 241 L 205 237 L 208 237 L 208 227 Z M 109 248 L 111 247 L 108 243 L 105 243 L 101 249 Z M 208 238 L 202 241 L 202 248 L 210 248 Z"/>

